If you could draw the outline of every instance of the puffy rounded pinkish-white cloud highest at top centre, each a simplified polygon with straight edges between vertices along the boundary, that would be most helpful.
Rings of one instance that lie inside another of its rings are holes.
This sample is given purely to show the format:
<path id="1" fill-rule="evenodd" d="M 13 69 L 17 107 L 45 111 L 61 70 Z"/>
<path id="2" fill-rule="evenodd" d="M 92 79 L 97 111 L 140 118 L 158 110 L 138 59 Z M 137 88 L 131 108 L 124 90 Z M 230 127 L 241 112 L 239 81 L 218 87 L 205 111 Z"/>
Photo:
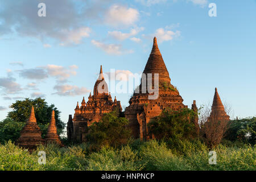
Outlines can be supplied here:
<path id="1" fill-rule="evenodd" d="M 126 6 L 113 5 L 106 12 L 105 22 L 110 26 L 131 26 L 139 19 L 139 12 Z"/>

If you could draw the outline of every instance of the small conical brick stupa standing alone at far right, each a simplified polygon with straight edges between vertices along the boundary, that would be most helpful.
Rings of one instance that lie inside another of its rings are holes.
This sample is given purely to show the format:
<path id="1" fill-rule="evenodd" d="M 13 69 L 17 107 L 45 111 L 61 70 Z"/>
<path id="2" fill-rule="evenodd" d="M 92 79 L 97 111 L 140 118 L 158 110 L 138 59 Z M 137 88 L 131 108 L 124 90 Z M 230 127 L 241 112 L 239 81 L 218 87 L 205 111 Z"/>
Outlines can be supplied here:
<path id="1" fill-rule="evenodd" d="M 220 96 L 218 95 L 218 90 L 215 88 L 212 112 L 208 118 L 208 121 L 229 121 L 229 115 L 226 114 L 224 106 L 221 102 Z"/>

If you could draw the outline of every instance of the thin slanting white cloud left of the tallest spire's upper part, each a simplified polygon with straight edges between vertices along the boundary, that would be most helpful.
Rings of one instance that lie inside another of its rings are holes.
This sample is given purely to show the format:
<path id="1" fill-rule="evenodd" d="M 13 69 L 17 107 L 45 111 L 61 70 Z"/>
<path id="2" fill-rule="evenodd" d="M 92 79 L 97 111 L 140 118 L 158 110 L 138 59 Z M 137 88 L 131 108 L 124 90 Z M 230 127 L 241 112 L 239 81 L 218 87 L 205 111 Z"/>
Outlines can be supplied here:
<path id="1" fill-rule="evenodd" d="M 125 50 L 122 48 L 120 44 L 105 44 L 102 42 L 98 42 L 96 40 L 92 40 L 92 44 L 98 48 L 101 48 L 103 51 L 110 55 L 121 55 L 123 53 L 133 53 L 132 50 Z"/>

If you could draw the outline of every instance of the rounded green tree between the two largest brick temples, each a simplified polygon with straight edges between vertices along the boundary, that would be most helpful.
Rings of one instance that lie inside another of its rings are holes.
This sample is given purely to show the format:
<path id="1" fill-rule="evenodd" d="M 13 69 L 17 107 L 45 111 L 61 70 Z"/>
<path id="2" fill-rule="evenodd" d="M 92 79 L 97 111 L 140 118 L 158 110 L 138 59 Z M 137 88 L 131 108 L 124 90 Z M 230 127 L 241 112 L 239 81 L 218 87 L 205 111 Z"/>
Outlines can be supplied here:
<path id="1" fill-rule="evenodd" d="M 118 147 L 131 137 L 131 130 L 126 118 L 118 117 L 117 112 L 106 113 L 100 122 L 88 127 L 86 140 L 100 147 L 103 145 Z"/>

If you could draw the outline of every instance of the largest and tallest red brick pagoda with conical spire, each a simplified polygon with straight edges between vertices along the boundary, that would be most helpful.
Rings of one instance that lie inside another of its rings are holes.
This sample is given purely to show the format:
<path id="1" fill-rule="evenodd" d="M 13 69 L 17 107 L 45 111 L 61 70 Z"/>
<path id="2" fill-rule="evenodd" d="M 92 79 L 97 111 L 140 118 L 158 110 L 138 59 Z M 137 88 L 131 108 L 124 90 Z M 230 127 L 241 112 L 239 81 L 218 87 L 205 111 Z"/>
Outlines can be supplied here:
<path id="1" fill-rule="evenodd" d="M 143 73 L 146 75 L 146 81 L 143 82 L 141 80 L 137 90 L 139 92 L 134 92 L 130 98 L 130 105 L 125 109 L 125 117 L 130 121 L 129 126 L 133 131 L 134 137 L 147 140 L 152 138 L 148 134 L 148 123 L 159 116 L 164 109 L 180 110 L 188 106 L 183 104 L 183 98 L 180 96 L 179 91 L 171 84 L 171 78 L 159 51 L 156 38 L 154 38 L 152 51 Z M 152 74 L 152 79 L 149 80 L 148 75 L 151 75 L 150 73 Z M 155 85 L 154 79 L 157 74 L 159 82 L 158 85 Z M 151 85 L 151 88 L 158 87 L 157 93 L 152 93 L 151 90 L 148 90 L 148 85 Z M 149 99 L 148 96 L 154 94 L 158 97 Z"/>

